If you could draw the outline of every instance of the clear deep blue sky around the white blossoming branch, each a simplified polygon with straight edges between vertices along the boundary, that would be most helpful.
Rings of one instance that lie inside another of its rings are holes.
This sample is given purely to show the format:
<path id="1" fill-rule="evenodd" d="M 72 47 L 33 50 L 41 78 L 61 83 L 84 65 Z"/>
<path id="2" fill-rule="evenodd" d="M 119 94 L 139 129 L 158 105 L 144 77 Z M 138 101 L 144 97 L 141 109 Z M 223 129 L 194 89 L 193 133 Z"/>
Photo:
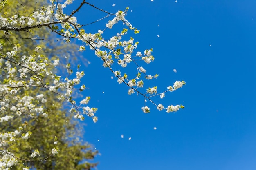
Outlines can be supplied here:
<path id="1" fill-rule="evenodd" d="M 127 19 L 141 32 L 129 36 L 139 41 L 139 51 L 153 48 L 155 61 L 145 68 L 151 75 L 159 73 L 146 88 L 155 85 L 161 91 L 176 80 L 186 81 L 164 99 L 155 98 L 185 109 L 159 112 L 147 102 L 151 112 L 144 114 L 144 98 L 128 95 L 128 87 L 111 79 L 99 58 L 89 49 L 83 52 L 90 61 L 84 95 L 91 96 L 91 107 L 99 108 L 96 124 L 85 120 L 84 138 L 101 153 L 98 170 L 256 169 L 256 1 L 87 2 L 112 13 L 130 7 Z M 86 6 L 78 20 L 87 24 L 104 15 Z M 107 21 L 85 29 L 94 33 Z"/>

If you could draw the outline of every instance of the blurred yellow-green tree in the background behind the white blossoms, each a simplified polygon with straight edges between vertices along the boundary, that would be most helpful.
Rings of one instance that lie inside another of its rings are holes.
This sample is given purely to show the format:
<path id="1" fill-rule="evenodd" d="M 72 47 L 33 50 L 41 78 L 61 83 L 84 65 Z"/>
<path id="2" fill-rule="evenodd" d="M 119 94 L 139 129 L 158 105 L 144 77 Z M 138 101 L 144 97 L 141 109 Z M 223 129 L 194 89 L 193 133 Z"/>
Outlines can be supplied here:
<path id="1" fill-rule="evenodd" d="M 4 15 L 13 16 L 20 13 L 33 13 L 35 7 L 41 7 L 46 5 L 45 0 L 13 0 L 5 1 L 4 11 L 1 13 Z M 13 10 L 14 9 L 14 10 Z M 24 13 L 24 14 L 25 14 Z M 17 23 L 18 25 L 19 23 Z M 22 52 L 20 55 L 35 54 L 36 46 L 42 48 L 40 55 L 47 56 L 50 60 L 56 60 L 60 58 L 63 62 L 67 62 L 68 58 L 72 57 L 72 61 L 76 60 L 79 56 L 76 52 L 79 47 L 76 44 L 65 44 L 62 40 L 57 41 L 55 33 L 49 31 L 47 27 L 33 29 L 33 31 L 16 31 L 10 33 L 0 31 L 2 35 L 2 44 L 4 48 L 1 49 L 1 53 L 5 54 L 8 51 L 12 51 L 14 44 L 20 44 L 22 46 Z M 38 38 L 45 41 L 38 40 Z M 42 36 L 43 35 L 43 36 Z M 31 38 L 29 38 L 31 37 Z M 54 40 L 55 39 L 55 40 Z M 67 51 L 67 49 L 69 49 Z M 66 58 L 64 57 L 66 56 Z M 5 62 L 2 60 L 2 64 Z M 16 62 L 21 62 L 21 58 L 18 57 Z M 62 62 L 62 63 L 63 63 Z M 56 69 L 53 65 L 49 66 L 50 69 Z M 60 67 L 62 68 L 62 67 Z M 7 77 L 7 71 L 1 69 L 0 82 L 3 82 Z M 45 77 L 45 81 L 49 81 L 49 77 Z M 43 88 L 27 88 L 19 89 L 20 96 L 30 95 L 36 97 L 39 93 L 43 92 L 44 98 L 50 98 L 44 105 L 48 110 L 48 114 L 45 117 L 34 115 L 34 117 L 28 117 L 26 114 L 15 116 L 11 121 L 3 121 L 0 124 L 0 132 L 9 132 L 19 128 L 21 124 L 24 125 L 23 131 L 30 131 L 33 137 L 27 140 L 17 140 L 16 142 L 9 142 L 8 151 L 16 153 L 15 156 L 21 159 L 30 160 L 30 155 L 35 149 L 40 150 L 40 156 L 37 160 L 45 159 L 51 153 L 54 138 L 57 137 L 58 141 L 55 144 L 59 151 L 54 157 L 49 157 L 45 161 L 18 161 L 11 169 L 22 169 L 22 167 L 29 166 L 38 170 L 89 170 L 96 166 L 97 163 L 91 161 L 97 151 L 92 150 L 89 144 L 84 142 L 81 138 L 83 135 L 82 124 L 78 124 L 77 120 L 73 118 L 67 108 L 65 108 L 66 102 L 59 102 L 58 95 L 49 91 L 44 91 Z M 0 100 L 3 100 L 4 96 L 1 96 Z M 15 98 L 9 98 L 9 106 L 16 103 Z M 39 101 L 36 102 L 39 104 Z M 64 106 L 64 107 L 63 107 Z M 4 117 L 4 113 L 0 113 L 0 117 Z M 20 162 L 20 163 L 19 163 Z"/>

